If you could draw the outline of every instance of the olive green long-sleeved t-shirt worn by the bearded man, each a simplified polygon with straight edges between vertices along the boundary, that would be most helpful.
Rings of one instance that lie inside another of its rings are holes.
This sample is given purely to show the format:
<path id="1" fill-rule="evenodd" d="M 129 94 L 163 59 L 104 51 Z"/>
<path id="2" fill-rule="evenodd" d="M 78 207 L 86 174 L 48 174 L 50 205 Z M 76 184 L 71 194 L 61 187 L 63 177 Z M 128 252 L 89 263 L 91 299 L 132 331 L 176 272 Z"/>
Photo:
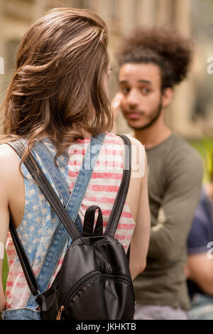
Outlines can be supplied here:
<path id="1" fill-rule="evenodd" d="M 177 134 L 146 154 L 151 238 L 146 269 L 133 281 L 136 301 L 189 310 L 183 266 L 202 187 L 202 158 Z"/>

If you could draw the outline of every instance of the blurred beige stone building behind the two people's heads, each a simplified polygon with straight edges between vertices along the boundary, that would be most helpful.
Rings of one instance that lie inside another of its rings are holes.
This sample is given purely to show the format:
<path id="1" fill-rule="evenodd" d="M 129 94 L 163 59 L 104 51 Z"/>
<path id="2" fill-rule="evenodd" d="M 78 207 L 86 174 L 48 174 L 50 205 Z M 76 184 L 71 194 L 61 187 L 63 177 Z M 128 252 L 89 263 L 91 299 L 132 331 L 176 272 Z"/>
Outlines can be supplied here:
<path id="1" fill-rule="evenodd" d="M 170 126 L 182 136 L 194 139 L 202 136 L 195 119 L 198 115 L 202 124 L 207 122 L 209 124 L 209 115 L 210 117 L 213 115 L 210 87 L 208 86 L 208 92 L 205 88 L 205 82 L 207 81 L 209 85 L 212 80 L 211 75 L 207 74 L 207 58 L 213 56 L 213 50 L 208 46 L 208 38 L 205 41 L 202 38 L 199 40 L 197 35 L 200 31 L 202 35 L 206 11 L 209 13 L 212 10 L 211 0 L 0 0 L 0 102 L 4 99 L 13 71 L 16 48 L 24 33 L 36 19 L 43 16 L 45 11 L 62 6 L 91 9 L 104 18 L 109 27 L 109 53 L 115 69 L 114 50 L 119 45 L 121 37 L 126 36 L 134 26 L 168 26 L 177 29 L 185 36 L 195 38 L 200 46 L 196 47 L 192 72 L 187 80 L 177 87 L 173 104 L 168 109 L 166 117 Z M 200 18 L 201 9 L 202 18 Z M 210 16 L 209 25 L 211 25 Z M 204 29 L 203 33 L 205 32 Z M 116 90 L 116 70 L 114 70 L 110 79 L 110 97 L 113 97 Z M 120 132 L 127 130 L 121 114 L 118 128 Z"/>

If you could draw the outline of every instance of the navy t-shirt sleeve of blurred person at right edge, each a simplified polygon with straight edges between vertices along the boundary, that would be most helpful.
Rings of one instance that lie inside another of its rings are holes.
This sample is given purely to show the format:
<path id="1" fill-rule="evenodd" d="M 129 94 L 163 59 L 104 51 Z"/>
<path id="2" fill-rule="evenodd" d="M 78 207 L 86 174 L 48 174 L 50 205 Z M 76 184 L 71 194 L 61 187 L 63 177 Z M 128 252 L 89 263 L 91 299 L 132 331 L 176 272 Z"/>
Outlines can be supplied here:
<path id="1" fill-rule="evenodd" d="M 192 227 L 187 238 L 187 252 L 189 255 L 202 254 L 208 251 L 207 244 L 210 241 L 207 231 L 208 225 L 207 214 L 204 212 L 202 203 L 200 203 L 195 212 Z"/>

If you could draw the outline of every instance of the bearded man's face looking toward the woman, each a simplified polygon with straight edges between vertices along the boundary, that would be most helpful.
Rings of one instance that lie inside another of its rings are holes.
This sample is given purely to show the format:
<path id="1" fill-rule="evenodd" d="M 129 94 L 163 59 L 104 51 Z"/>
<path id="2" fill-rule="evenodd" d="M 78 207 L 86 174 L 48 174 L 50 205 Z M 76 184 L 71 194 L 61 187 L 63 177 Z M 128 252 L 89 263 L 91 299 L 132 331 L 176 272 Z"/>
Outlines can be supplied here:
<path id="1" fill-rule="evenodd" d="M 162 109 L 160 68 L 152 63 L 126 63 L 119 72 L 119 85 L 121 109 L 129 126 L 135 130 L 151 126 Z"/>

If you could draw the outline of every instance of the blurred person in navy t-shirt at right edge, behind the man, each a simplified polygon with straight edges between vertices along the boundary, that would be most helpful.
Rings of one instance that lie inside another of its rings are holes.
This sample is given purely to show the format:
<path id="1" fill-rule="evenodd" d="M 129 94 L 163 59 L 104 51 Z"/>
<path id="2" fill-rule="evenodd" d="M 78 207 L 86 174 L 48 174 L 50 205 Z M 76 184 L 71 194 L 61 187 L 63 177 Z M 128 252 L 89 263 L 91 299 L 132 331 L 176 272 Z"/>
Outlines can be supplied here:
<path id="1" fill-rule="evenodd" d="M 213 178 L 204 185 L 187 239 L 192 319 L 213 320 Z"/>

